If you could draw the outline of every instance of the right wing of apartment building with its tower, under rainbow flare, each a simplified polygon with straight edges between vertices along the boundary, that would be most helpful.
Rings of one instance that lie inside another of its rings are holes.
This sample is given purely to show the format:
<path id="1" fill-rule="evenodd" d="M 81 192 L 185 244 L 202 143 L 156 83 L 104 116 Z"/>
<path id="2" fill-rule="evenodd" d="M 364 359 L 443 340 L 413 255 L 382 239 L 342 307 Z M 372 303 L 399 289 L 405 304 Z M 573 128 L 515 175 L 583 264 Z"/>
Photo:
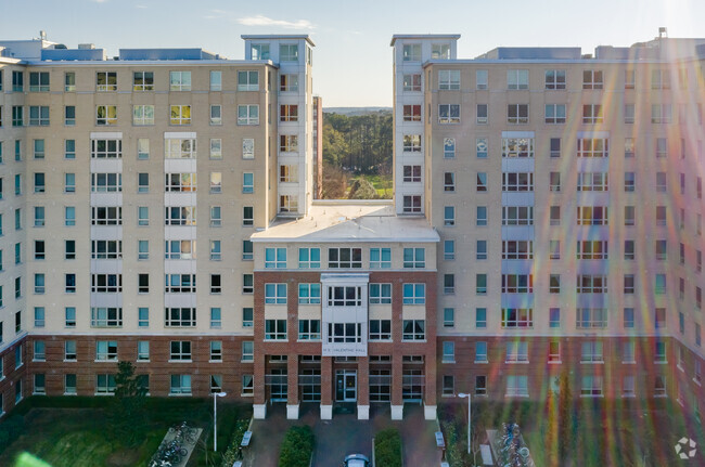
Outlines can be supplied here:
<path id="1" fill-rule="evenodd" d="M 700 414 L 704 39 L 498 48 L 395 36 L 396 212 L 437 251 L 440 397 Z"/>

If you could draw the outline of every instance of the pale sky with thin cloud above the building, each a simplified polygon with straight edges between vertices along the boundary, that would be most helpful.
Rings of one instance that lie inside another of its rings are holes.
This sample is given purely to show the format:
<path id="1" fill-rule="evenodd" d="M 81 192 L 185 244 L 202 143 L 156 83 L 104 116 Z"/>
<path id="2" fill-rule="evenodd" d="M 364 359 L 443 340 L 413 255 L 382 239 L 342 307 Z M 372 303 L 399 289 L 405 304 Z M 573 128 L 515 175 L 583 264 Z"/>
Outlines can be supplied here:
<path id="1" fill-rule="evenodd" d="M 703 0 L 0 0 L 0 39 L 203 48 L 244 57 L 243 34 L 308 34 L 324 107 L 392 106 L 394 34 L 460 34 L 458 57 L 496 47 L 627 47 L 705 37 Z"/>

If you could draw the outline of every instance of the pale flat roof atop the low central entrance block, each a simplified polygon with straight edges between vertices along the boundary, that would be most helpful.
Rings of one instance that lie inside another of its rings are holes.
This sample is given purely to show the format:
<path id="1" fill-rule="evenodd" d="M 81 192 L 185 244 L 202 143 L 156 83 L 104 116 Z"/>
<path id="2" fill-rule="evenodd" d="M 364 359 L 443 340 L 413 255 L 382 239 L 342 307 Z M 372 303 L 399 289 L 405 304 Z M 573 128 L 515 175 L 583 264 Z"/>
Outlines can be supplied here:
<path id="1" fill-rule="evenodd" d="M 421 217 L 396 216 L 390 202 L 316 203 L 305 218 L 278 219 L 252 235 L 262 243 L 437 243 L 438 232 Z"/>

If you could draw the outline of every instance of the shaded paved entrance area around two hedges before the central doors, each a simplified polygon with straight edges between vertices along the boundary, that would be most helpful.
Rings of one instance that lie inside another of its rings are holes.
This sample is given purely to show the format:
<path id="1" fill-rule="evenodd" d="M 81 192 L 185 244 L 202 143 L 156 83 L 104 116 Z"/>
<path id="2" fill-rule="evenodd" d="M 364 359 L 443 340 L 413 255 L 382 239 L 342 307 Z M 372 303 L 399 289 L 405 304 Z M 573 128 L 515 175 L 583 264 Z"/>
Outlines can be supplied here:
<path id="1" fill-rule="evenodd" d="M 275 467 L 284 433 L 295 425 L 308 425 L 313 429 L 313 467 L 338 467 L 345 456 L 352 453 L 364 454 L 371 459 L 372 437 L 389 427 L 401 432 L 406 467 L 440 465 L 440 453 L 434 437 L 437 424 L 435 420 L 424 420 L 423 407 L 419 405 L 406 405 L 403 420 L 399 421 L 390 419 L 388 405 L 372 405 L 369 420 L 358 420 L 356 415 L 347 414 L 335 414 L 332 420 L 321 420 L 318 404 L 302 404 L 298 420 L 287 420 L 282 404 L 268 406 L 267 410 L 267 419 L 253 421 L 252 446 L 245 455 L 243 467 Z"/>

